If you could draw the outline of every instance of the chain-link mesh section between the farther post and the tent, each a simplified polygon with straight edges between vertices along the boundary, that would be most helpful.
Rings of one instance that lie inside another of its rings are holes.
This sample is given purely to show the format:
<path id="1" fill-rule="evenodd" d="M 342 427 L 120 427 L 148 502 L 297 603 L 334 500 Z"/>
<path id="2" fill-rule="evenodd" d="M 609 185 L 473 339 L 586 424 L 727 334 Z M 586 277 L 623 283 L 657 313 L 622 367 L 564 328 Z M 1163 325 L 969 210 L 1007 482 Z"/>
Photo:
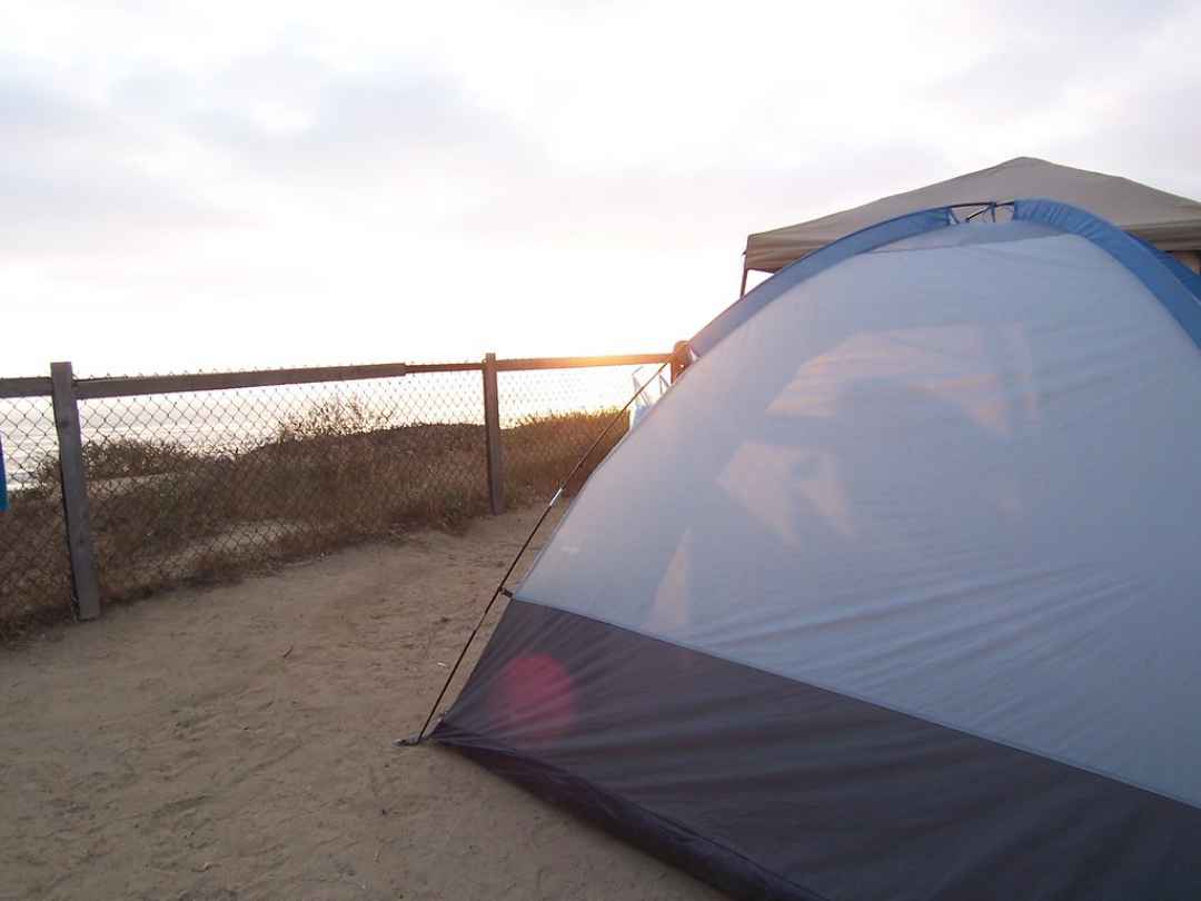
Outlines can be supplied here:
<path id="1" fill-rule="evenodd" d="M 645 365 L 498 372 L 506 501 L 520 505 L 549 497 L 634 390 L 658 369 Z M 628 428 L 629 418 L 623 416 L 609 429 L 567 485 L 568 495 L 579 490 Z"/>

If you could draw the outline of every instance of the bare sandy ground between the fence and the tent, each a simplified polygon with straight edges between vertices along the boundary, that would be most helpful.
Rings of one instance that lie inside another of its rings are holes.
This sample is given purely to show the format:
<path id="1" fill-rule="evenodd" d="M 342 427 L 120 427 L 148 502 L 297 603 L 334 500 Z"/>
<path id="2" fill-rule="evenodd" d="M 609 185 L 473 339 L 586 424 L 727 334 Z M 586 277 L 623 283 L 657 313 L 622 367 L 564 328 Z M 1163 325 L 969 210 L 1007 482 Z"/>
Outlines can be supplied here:
<path id="1" fill-rule="evenodd" d="M 0 650 L 0 899 L 721 897 L 450 751 L 392 747 L 536 515 Z"/>

